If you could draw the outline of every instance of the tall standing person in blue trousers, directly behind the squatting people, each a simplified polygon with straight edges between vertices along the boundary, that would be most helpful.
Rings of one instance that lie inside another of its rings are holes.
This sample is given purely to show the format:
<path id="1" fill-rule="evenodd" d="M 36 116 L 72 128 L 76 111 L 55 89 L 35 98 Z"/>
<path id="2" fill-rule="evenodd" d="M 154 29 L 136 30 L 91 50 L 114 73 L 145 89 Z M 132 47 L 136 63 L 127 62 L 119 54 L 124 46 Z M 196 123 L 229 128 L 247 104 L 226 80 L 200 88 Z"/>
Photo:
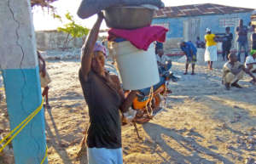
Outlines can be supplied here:
<path id="1" fill-rule="evenodd" d="M 247 55 L 248 55 L 248 40 L 247 40 L 247 26 L 243 25 L 243 20 L 239 20 L 239 26 L 236 27 L 236 34 L 237 34 L 237 51 L 238 51 L 238 60 L 241 61 L 241 48 L 244 49 L 244 54 L 245 54 L 245 58 L 244 60 L 246 60 Z"/>

